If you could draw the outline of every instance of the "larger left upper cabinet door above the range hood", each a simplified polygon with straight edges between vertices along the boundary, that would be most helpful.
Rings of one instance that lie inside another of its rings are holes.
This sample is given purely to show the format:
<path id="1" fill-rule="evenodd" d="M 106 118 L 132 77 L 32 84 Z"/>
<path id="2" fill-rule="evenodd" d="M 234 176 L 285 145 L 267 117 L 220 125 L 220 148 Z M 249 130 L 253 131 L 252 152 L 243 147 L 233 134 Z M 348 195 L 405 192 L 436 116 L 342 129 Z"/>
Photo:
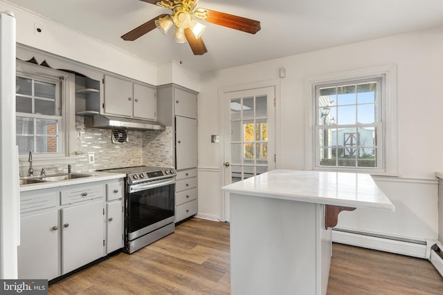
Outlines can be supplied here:
<path id="1" fill-rule="evenodd" d="M 105 75 L 105 113 L 132 117 L 132 83 Z"/>

